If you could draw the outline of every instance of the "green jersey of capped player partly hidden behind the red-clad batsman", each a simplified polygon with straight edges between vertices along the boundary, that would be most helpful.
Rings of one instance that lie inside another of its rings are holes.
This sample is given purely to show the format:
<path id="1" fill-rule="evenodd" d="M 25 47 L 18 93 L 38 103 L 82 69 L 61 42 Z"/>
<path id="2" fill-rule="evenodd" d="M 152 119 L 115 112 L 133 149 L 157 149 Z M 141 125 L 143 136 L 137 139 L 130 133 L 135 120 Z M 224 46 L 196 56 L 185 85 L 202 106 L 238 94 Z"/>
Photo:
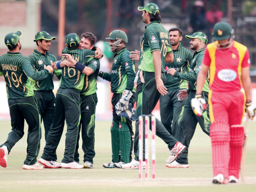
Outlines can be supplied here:
<path id="1" fill-rule="evenodd" d="M 197 78 L 197 75 L 198 75 L 200 69 L 202 68 L 202 60 L 204 58 L 204 51 L 205 51 L 205 48 L 200 49 L 194 53 L 188 74 L 175 72 L 173 75 L 174 77 L 178 77 L 179 79 L 188 80 L 188 90 L 190 90 L 190 91 L 196 90 L 196 78 Z M 204 82 L 204 87 L 202 89 L 202 91 L 204 91 L 204 92 L 210 91 L 209 79 L 210 79 L 210 77 L 209 77 L 209 73 L 208 73 L 208 76 L 206 77 L 206 80 Z"/>

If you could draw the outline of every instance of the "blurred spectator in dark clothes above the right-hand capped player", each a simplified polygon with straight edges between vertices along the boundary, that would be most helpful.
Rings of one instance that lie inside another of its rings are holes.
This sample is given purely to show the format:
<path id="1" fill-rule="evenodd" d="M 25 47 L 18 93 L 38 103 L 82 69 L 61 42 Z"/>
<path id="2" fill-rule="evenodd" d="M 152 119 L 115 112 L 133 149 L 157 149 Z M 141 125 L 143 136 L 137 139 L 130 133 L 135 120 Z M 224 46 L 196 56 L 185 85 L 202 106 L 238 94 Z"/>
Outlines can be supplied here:
<path id="1" fill-rule="evenodd" d="M 190 21 L 188 31 L 195 33 L 196 31 L 203 31 L 207 29 L 205 22 L 204 2 L 201 0 L 195 1 L 195 4 L 190 13 Z"/>

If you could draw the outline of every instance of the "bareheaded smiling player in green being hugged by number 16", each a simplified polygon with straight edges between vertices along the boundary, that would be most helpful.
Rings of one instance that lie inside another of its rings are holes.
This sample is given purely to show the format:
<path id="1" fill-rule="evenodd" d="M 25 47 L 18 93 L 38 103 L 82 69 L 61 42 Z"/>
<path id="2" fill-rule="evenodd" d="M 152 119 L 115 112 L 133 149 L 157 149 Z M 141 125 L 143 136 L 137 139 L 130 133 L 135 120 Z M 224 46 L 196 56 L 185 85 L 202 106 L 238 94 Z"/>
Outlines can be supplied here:
<path id="1" fill-rule="evenodd" d="M 81 35 L 79 49 L 94 50 L 94 43 L 97 38 L 92 33 L 86 32 Z M 74 64 L 75 60 L 72 60 Z M 84 168 L 93 168 L 94 151 L 94 128 L 95 128 L 95 110 L 98 102 L 97 98 L 97 79 L 100 70 L 99 59 L 92 59 L 87 65 L 88 73 L 84 77 L 84 86 L 80 92 L 81 98 L 81 120 L 79 133 L 82 130 L 82 149 L 84 151 Z M 78 134 L 78 140 L 79 140 Z M 75 161 L 79 162 L 78 143 L 76 145 Z"/>

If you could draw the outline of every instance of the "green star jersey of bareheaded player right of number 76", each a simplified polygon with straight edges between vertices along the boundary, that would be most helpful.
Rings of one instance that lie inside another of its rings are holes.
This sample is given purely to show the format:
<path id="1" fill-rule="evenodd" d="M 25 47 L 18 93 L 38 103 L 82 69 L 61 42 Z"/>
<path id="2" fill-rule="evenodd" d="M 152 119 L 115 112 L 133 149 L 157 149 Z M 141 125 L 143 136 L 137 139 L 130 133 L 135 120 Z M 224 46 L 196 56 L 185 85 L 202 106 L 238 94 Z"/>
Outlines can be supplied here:
<path id="1" fill-rule="evenodd" d="M 179 79 L 171 74 L 167 74 L 167 70 L 174 68 L 180 73 L 189 73 L 189 67 L 192 60 L 192 53 L 181 44 L 176 50 L 173 50 L 174 60 L 172 63 L 165 63 L 166 81 L 164 86 L 168 91 L 185 88 L 187 89 L 187 80 Z"/>

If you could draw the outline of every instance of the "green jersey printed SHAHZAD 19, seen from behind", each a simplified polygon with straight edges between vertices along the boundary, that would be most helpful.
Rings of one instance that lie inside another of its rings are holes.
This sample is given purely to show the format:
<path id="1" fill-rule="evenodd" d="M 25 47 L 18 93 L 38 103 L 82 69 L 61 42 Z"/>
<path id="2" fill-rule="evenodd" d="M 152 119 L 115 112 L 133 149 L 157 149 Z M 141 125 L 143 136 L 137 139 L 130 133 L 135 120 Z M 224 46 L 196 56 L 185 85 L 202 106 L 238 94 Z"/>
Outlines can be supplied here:
<path id="1" fill-rule="evenodd" d="M 33 96 L 33 87 L 28 77 L 33 81 L 41 81 L 48 74 L 47 69 L 36 72 L 28 58 L 20 52 L 7 52 L 0 56 L 0 76 L 4 76 L 8 99 Z"/>

